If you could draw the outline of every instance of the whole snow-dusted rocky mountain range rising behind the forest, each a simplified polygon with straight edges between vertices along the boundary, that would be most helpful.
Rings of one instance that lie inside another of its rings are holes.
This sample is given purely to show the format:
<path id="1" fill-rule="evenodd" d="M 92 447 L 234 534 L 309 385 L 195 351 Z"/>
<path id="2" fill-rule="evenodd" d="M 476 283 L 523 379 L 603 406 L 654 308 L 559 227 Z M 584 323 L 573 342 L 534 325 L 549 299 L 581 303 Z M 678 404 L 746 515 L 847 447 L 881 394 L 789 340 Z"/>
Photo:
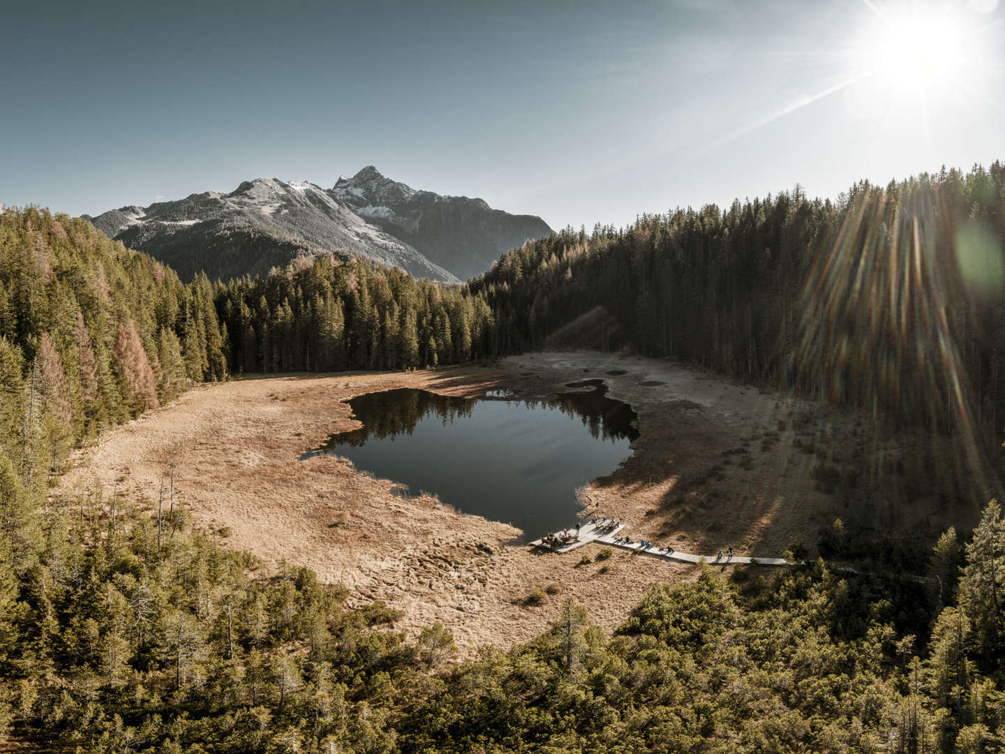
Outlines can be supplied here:
<path id="1" fill-rule="evenodd" d="M 300 254 L 344 249 L 418 277 L 455 282 L 552 229 L 481 199 L 417 191 L 368 166 L 332 189 L 275 178 L 245 181 L 149 207 L 89 217 L 127 246 L 170 264 L 184 279 L 265 274 Z"/>

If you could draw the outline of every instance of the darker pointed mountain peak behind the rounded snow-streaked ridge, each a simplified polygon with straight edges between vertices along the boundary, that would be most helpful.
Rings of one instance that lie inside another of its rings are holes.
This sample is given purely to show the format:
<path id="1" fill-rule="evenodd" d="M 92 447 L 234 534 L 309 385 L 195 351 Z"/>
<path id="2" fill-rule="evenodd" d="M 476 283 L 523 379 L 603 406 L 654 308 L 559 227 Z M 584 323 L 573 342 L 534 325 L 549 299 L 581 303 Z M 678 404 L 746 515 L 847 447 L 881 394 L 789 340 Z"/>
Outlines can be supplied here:
<path id="1" fill-rule="evenodd" d="M 482 199 L 418 191 L 372 165 L 340 178 L 331 193 L 462 279 L 485 271 L 504 251 L 552 232 L 536 215 L 492 209 Z"/>

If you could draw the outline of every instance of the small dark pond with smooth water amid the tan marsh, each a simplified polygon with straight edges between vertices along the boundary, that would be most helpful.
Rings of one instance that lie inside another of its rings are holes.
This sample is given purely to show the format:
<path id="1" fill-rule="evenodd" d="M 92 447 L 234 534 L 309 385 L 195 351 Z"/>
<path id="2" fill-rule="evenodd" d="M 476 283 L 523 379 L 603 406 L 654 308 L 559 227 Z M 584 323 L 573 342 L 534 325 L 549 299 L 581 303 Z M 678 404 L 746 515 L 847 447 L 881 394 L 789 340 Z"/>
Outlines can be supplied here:
<path id="1" fill-rule="evenodd" d="M 349 401 L 363 426 L 332 435 L 318 453 L 349 458 L 358 470 L 430 493 L 464 513 L 502 521 L 531 538 L 571 526 L 576 489 L 615 468 L 638 436 L 635 412 L 592 388 L 547 401 L 488 394 L 453 398 L 401 388 Z"/>

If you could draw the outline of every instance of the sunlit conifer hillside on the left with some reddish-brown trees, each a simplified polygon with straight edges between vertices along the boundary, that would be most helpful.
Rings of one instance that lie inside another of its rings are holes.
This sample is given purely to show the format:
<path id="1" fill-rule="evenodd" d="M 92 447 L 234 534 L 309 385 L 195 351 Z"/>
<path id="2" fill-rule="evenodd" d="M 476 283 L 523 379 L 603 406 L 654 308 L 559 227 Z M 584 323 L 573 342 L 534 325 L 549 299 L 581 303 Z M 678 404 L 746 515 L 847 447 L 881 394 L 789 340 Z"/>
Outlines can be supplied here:
<path id="1" fill-rule="evenodd" d="M 0 213 L 0 454 L 25 484 L 102 429 L 227 376 L 205 277 L 79 218 Z"/>

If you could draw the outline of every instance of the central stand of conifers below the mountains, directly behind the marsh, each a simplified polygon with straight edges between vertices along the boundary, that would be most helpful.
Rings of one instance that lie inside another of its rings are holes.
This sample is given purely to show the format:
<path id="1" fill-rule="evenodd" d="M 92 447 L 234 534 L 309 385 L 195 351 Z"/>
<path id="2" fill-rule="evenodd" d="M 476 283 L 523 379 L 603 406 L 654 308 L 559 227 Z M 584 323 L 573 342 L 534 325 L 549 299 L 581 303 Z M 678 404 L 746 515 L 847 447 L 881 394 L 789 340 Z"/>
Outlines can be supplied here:
<path id="1" fill-rule="evenodd" d="M 216 303 L 235 373 L 402 369 L 497 353 L 484 297 L 331 254 L 232 280 Z"/>

